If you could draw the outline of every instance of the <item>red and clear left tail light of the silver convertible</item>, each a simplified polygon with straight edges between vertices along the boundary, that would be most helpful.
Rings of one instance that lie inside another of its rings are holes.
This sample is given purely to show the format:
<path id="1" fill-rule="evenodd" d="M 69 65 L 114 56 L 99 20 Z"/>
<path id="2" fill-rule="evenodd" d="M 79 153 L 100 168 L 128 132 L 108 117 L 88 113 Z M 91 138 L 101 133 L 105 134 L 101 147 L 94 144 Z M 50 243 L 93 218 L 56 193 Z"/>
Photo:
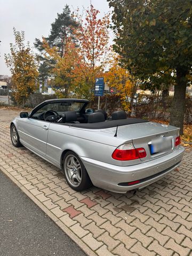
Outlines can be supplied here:
<path id="1" fill-rule="evenodd" d="M 124 144 L 115 149 L 112 158 L 119 161 L 129 161 L 146 157 L 144 148 L 134 148 L 132 143 Z"/>

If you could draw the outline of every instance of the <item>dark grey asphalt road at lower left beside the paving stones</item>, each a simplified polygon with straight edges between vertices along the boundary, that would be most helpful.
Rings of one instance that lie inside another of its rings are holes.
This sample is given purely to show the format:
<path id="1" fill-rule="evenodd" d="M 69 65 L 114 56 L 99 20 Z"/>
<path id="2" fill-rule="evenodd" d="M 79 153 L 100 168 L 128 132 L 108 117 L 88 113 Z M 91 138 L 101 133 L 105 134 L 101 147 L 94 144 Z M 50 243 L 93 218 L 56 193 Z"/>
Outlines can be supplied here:
<path id="1" fill-rule="evenodd" d="M 0 170 L 0 255 L 86 254 Z"/>

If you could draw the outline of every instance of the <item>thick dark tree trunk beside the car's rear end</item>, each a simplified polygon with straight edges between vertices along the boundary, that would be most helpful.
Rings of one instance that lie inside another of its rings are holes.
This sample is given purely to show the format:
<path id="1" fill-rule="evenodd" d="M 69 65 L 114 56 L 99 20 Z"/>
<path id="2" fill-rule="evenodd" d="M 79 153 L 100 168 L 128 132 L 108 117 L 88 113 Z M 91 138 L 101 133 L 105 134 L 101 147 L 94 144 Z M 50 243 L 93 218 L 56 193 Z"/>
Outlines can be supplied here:
<path id="1" fill-rule="evenodd" d="M 171 108 L 170 124 L 180 127 L 180 134 L 183 134 L 183 121 L 185 114 L 185 98 L 187 87 L 187 71 L 177 69 L 177 79 L 174 86 L 174 96 Z"/>

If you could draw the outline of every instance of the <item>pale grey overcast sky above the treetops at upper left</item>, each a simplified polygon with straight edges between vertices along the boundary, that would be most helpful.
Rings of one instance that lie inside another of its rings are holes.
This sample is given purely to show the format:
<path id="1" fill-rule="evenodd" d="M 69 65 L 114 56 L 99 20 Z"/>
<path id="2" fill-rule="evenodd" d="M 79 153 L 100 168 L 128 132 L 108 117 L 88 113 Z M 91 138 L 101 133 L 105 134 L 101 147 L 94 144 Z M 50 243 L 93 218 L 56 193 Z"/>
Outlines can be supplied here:
<path id="1" fill-rule="evenodd" d="M 90 0 L 0 0 L 0 75 L 10 75 L 4 53 L 10 52 L 14 43 L 13 27 L 25 31 L 26 41 L 33 45 L 35 38 L 48 36 L 51 23 L 68 4 L 73 10 L 90 5 Z M 92 0 L 93 6 L 103 15 L 109 11 L 107 0 Z"/>

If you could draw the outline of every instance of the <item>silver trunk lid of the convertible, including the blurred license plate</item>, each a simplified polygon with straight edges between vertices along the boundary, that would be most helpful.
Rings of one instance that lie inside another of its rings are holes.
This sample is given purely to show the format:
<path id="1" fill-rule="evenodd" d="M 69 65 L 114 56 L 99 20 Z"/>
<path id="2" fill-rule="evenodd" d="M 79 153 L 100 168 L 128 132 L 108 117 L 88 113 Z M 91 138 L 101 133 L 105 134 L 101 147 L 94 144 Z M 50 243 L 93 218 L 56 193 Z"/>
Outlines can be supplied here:
<path id="1" fill-rule="evenodd" d="M 179 128 L 147 122 L 113 127 L 105 132 L 116 133 L 118 139 L 125 140 L 124 143 L 132 140 L 135 148 L 144 148 L 147 156 L 140 159 L 143 162 L 171 153 L 175 149 Z"/>

